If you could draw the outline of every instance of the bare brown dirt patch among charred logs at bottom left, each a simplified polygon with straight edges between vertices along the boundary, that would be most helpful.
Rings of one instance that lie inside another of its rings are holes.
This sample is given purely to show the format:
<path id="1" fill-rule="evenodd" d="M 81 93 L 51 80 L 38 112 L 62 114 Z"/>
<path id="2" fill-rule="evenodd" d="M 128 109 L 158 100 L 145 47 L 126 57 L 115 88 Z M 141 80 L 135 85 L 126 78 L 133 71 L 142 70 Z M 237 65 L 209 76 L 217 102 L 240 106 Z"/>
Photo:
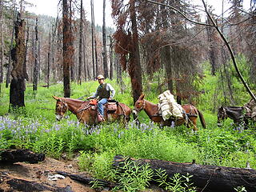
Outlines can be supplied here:
<path id="1" fill-rule="evenodd" d="M 30 164 L 26 162 L 16 162 L 10 165 L 0 164 L 0 192 L 10 192 L 10 191 L 26 191 L 24 189 L 16 189 L 8 184 L 8 180 L 22 179 L 28 182 L 37 182 L 45 186 L 50 186 L 54 188 L 62 187 L 69 190 L 63 191 L 74 191 L 74 192 L 94 192 L 95 190 L 90 189 L 90 186 L 85 186 L 82 183 L 76 182 L 69 177 L 58 178 L 56 181 L 50 180 L 50 176 L 53 176 L 55 171 L 61 170 L 71 174 L 82 174 L 89 176 L 85 172 L 78 172 L 78 166 L 76 162 L 69 161 L 58 161 L 53 158 L 46 158 L 43 162 L 36 164 Z M 7 178 L 6 178 L 7 177 Z M 27 190 L 30 191 L 30 190 Z M 33 190 L 34 191 L 34 190 Z M 49 190 L 41 190 L 49 191 Z M 50 190 L 52 191 L 52 190 Z M 61 191 L 61 190 L 58 190 Z"/>

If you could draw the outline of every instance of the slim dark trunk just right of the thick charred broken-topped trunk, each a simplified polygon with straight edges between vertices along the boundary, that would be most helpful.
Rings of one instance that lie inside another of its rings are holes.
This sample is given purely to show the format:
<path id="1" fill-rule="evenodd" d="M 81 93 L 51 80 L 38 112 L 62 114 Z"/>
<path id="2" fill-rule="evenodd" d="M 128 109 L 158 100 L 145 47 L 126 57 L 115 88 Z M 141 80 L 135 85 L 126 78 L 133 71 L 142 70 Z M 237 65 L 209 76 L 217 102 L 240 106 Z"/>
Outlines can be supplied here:
<path id="1" fill-rule="evenodd" d="M 38 18 L 36 18 L 34 28 L 34 71 L 33 71 L 33 90 L 38 90 Z"/>

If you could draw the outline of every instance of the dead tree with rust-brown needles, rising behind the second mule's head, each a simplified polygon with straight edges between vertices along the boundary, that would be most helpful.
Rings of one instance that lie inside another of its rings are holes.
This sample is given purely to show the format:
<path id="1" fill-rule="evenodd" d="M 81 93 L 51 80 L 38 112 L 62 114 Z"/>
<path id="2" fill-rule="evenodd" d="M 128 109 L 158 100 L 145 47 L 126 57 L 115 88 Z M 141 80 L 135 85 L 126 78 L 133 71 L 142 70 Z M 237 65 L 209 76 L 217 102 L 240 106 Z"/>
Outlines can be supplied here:
<path id="1" fill-rule="evenodd" d="M 117 31 L 114 34 L 115 51 L 120 55 L 123 70 L 127 69 L 130 75 L 135 103 L 142 93 L 142 66 L 138 46 L 135 1 L 130 0 L 126 6 L 122 0 L 113 1 L 112 10 L 117 25 Z"/>

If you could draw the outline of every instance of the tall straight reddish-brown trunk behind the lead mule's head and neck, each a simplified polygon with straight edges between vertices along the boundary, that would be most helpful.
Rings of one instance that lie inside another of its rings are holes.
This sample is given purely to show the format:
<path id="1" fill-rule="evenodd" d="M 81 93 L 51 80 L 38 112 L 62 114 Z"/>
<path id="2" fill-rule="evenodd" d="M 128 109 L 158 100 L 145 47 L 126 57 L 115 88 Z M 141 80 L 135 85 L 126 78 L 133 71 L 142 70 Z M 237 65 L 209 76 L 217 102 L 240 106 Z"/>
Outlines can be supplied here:
<path id="1" fill-rule="evenodd" d="M 63 19 L 63 86 L 64 97 L 70 98 L 70 22 L 69 6 L 67 0 L 62 0 L 62 19 Z"/>

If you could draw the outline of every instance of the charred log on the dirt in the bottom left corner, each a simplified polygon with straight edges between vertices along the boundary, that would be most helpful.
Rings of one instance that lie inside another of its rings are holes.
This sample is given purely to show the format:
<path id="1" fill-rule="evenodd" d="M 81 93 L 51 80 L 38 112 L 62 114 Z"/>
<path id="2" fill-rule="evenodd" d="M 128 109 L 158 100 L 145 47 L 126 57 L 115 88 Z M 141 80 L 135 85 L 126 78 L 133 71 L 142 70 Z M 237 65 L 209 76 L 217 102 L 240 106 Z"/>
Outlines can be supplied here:
<path id="1" fill-rule="evenodd" d="M 49 186 L 45 183 L 28 181 L 21 178 L 13 178 L 4 172 L 0 172 L 0 191 L 56 191 L 73 192 L 70 186 Z"/>

